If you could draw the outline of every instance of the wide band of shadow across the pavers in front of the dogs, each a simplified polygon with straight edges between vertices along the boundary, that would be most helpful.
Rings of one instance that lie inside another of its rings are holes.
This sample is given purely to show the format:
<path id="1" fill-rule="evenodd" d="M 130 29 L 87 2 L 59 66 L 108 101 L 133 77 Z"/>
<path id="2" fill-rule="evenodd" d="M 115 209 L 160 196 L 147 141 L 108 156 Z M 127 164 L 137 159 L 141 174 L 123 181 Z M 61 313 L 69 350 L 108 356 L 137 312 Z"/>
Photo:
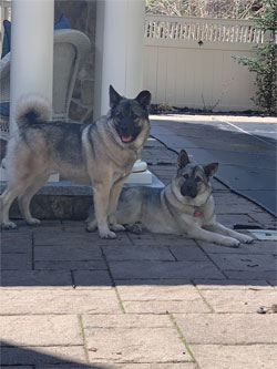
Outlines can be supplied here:
<path id="1" fill-rule="evenodd" d="M 73 224 L 73 222 L 72 222 Z M 2 232 L 3 287 L 103 289 L 129 285 L 276 284 L 276 243 L 239 248 L 182 236 L 119 233 L 103 240 L 79 226 Z M 268 283 L 267 283 L 268 281 Z"/>

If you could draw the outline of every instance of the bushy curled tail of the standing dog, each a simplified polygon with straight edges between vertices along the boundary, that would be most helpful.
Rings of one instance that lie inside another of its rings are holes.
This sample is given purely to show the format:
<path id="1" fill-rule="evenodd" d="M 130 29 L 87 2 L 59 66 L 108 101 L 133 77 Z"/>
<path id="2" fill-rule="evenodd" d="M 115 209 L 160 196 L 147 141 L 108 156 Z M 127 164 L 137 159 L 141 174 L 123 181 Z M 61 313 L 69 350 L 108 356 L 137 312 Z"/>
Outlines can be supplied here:
<path id="1" fill-rule="evenodd" d="M 19 100 L 17 110 L 18 126 L 50 121 L 51 115 L 51 105 L 43 96 L 25 95 Z"/>

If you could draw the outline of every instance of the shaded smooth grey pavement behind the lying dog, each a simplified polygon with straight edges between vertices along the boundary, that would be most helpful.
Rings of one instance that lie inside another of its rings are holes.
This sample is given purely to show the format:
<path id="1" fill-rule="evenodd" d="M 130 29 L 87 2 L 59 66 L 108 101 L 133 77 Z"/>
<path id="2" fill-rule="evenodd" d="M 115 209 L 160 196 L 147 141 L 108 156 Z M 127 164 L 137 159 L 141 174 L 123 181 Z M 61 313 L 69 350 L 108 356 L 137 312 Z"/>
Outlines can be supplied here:
<path id="1" fill-rule="evenodd" d="M 152 120 L 151 134 L 185 148 L 198 163 L 219 162 L 217 178 L 271 214 L 276 208 L 276 140 L 238 132 L 225 122 Z"/>

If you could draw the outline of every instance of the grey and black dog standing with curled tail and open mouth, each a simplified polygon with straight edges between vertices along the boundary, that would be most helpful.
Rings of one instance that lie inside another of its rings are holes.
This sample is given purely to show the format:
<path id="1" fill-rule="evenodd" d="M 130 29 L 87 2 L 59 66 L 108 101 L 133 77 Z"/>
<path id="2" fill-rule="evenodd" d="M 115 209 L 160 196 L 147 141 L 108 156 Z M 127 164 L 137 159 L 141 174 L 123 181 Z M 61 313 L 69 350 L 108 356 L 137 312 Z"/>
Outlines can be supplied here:
<path id="1" fill-rule="evenodd" d="M 23 218 L 30 225 L 32 196 L 49 175 L 91 184 L 101 238 L 114 238 L 122 230 L 115 211 L 124 181 L 131 173 L 150 131 L 151 93 L 135 99 L 121 96 L 110 86 L 107 115 L 92 124 L 49 122 L 51 110 L 43 98 L 27 96 L 19 103 L 18 130 L 8 143 L 8 187 L 1 195 L 1 226 L 14 228 L 9 208 L 18 197 Z M 109 227 L 111 224 L 111 229 Z"/>

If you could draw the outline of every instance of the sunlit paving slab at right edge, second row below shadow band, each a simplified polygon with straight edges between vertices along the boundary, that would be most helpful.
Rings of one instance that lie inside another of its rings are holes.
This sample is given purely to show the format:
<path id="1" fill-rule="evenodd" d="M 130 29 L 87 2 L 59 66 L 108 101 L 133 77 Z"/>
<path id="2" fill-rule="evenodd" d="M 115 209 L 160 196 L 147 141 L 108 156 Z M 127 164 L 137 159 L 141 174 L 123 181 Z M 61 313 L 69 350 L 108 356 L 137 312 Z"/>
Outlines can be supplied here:
<path id="1" fill-rule="evenodd" d="M 188 344 L 277 344 L 275 314 L 174 314 Z"/>

